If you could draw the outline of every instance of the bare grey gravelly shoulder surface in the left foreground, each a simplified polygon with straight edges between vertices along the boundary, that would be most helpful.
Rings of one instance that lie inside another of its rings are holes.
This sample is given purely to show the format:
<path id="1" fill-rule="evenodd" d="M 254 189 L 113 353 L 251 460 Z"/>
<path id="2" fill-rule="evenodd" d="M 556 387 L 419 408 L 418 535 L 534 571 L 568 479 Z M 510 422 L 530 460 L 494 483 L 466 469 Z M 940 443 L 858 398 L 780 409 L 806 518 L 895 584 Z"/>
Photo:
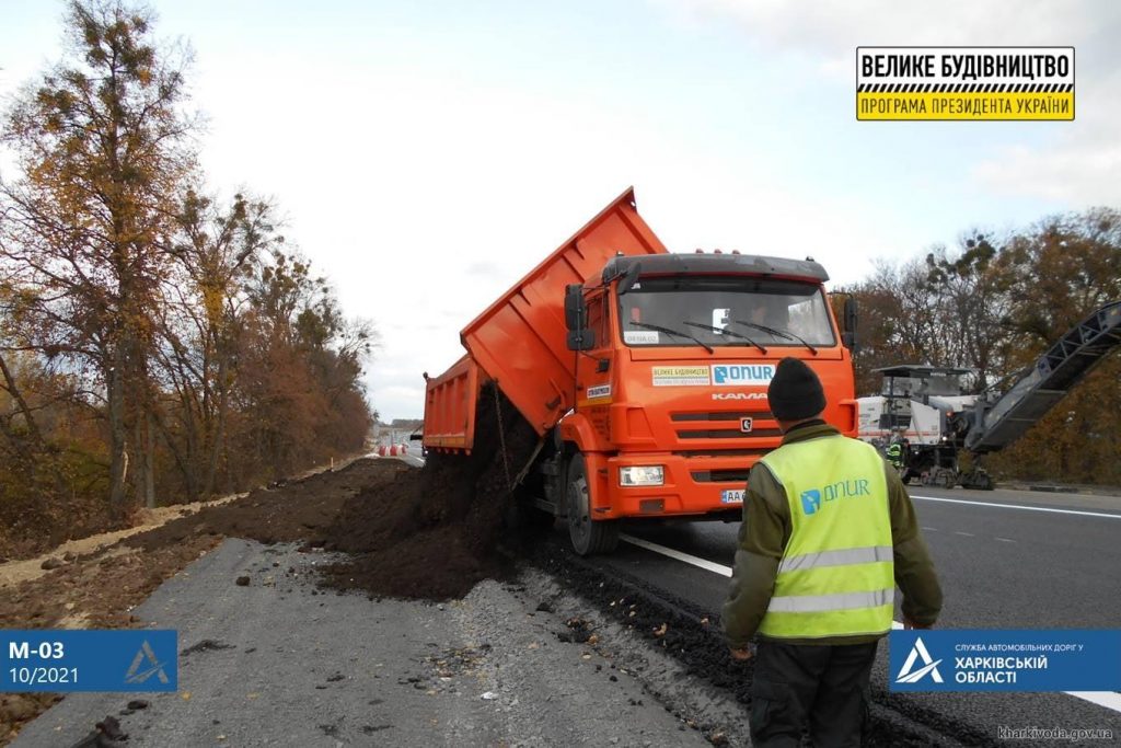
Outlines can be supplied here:
<path id="1" fill-rule="evenodd" d="M 119 717 L 127 745 L 707 746 L 691 712 L 732 719 L 703 689 L 674 692 L 673 663 L 626 632 L 560 641 L 580 602 L 539 574 L 437 606 L 317 592 L 324 561 L 228 539 L 137 608 L 146 625 L 178 629 L 179 691 L 145 694 L 147 709 Z M 243 574 L 251 583 L 235 585 Z M 680 718 L 651 689 L 674 693 Z M 72 746 L 136 698 L 71 694 L 12 745 Z"/>

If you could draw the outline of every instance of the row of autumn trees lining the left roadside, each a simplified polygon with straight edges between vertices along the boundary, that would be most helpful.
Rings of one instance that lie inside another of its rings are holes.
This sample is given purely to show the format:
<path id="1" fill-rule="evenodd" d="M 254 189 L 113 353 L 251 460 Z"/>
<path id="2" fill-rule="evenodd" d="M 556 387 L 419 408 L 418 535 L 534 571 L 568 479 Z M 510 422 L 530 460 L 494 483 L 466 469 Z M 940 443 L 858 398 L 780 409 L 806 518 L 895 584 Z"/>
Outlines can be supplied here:
<path id="1" fill-rule="evenodd" d="M 353 452 L 371 425 L 372 326 L 271 204 L 207 193 L 191 55 L 154 20 L 73 0 L 65 58 L 2 121 L 0 555 Z"/>

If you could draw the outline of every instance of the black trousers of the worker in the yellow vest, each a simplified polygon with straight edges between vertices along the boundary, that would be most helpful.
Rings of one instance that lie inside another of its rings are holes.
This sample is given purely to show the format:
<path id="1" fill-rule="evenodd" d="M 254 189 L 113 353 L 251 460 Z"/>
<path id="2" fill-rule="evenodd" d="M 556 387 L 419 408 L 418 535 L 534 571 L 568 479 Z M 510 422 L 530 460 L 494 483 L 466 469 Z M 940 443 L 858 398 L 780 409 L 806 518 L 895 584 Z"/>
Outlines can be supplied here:
<path id="1" fill-rule="evenodd" d="M 860 746 L 876 641 L 814 646 L 760 641 L 751 682 L 751 740 L 763 748 Z"/>

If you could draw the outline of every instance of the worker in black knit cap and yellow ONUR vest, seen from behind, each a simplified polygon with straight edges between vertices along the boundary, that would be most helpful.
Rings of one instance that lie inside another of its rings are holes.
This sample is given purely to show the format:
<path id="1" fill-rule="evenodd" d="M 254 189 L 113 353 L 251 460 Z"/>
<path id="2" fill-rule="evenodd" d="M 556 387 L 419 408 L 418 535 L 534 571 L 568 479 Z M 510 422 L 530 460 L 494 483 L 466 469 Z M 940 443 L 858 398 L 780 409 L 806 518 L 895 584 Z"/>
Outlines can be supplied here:
<path id="1" fill-rule="evenodd" d="M 732 657 L 756 657 L 751 738 L 859 746 L 896 585 L 908 628 L 934 625 L 942 589 L 899 473 L 822 419 L 813 370 L 782 359 L 767 395 L 782 443 L 748 478 L 722 617 Z"/>

